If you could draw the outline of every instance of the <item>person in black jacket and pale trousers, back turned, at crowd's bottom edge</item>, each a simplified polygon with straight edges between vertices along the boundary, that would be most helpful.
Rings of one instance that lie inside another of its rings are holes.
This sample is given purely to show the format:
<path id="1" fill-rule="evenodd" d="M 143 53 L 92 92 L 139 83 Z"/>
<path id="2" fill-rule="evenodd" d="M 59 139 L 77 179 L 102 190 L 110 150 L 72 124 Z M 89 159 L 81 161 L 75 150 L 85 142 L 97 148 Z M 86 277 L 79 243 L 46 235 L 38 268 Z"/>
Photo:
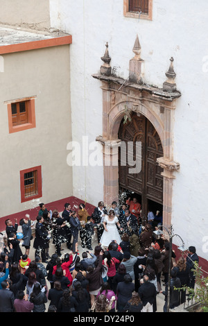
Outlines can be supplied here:
<path id="1" fill-rule="evenodd" d="M 149 277 L 144 275 L 143 283 L 139 286 L 139 297 L 143 303 L 144 312 L 153 312 L 153 304 L 157 295 L 155 285 L 149 282 Z"/>

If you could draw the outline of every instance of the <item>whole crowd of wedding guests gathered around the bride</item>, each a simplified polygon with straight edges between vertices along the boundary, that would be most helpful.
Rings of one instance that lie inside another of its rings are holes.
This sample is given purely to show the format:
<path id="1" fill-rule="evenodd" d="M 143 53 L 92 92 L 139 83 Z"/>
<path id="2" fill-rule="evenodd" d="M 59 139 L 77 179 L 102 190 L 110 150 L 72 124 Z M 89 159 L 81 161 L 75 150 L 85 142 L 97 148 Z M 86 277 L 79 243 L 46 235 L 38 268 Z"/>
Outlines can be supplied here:
<path id="1" fill-rule="evenodd" d="M 162 223 L 158 212 L 147 217 L 144 223 L 141 205 L 128 198 L 121 206 L 113 202 L 110 209 L 101 201 L 91 215 L 84 204 L 76 212 L 66 203 L 60 214 L 42 203 L 35 234 L 30 216 L 19 221 L 22 232 L 17 232 L 17 220 L 13 225 L 7 219 L 0 250 L 0 311 L 155 312 L 157 295 L 163 293 L 166 312 L 171 248 L 168 239 L 157 239 L 153 232 Z M 68 249 L 64 255 L 63 243 Z M 198 255 L 193 246 L 187 259 L 176 259 L 172 251 L 171 309 L 185 302 L 182 287 L 194 288 L 194 261 Z"/>

